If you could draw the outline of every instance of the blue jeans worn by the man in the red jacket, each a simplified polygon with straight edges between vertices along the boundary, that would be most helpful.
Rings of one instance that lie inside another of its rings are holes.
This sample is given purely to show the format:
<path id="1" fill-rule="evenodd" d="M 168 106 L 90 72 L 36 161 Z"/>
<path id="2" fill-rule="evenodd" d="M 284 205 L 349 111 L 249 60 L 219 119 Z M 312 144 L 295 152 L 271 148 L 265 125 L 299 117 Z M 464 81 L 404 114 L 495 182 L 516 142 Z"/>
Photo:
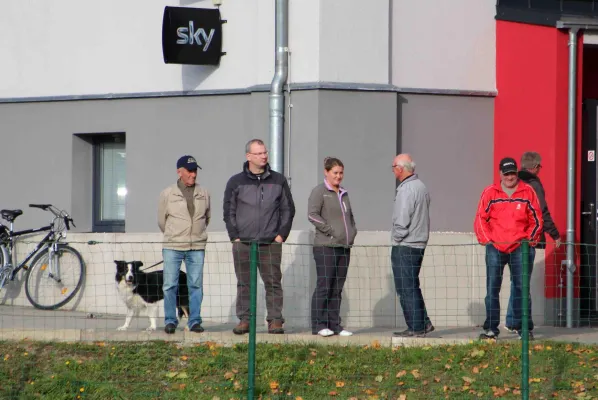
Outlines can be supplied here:
<path id="1" fill-rule="evenodd" d="M 502 285 L 503 272 L 506 264 L 509 264 L 511 271 L 511 295 L 509 303 L 512 308 L 511 324 L 507 319 L 509 327 L 514 329 L 521 329 L 522 312 L 522 287 L 523 287 L 523 259 L 521 247 L 518 247 L 512 253 L 503 253 L 498 251 L 496 247 L 489 244 L 486 245 L 486 321 L 484 321 L 484 330 L 491 330 L 498 335 L 498 325 L 500 323 L 500 288 Z M 530 281 L 532 266 L 536 255 L 536 249 L 529 248 L 529 274 L 527 276 L 528 283 Z M 534 329 L 534 322 L 531 318 L 531 298 L 528 304 L 529 330 Z"/>

